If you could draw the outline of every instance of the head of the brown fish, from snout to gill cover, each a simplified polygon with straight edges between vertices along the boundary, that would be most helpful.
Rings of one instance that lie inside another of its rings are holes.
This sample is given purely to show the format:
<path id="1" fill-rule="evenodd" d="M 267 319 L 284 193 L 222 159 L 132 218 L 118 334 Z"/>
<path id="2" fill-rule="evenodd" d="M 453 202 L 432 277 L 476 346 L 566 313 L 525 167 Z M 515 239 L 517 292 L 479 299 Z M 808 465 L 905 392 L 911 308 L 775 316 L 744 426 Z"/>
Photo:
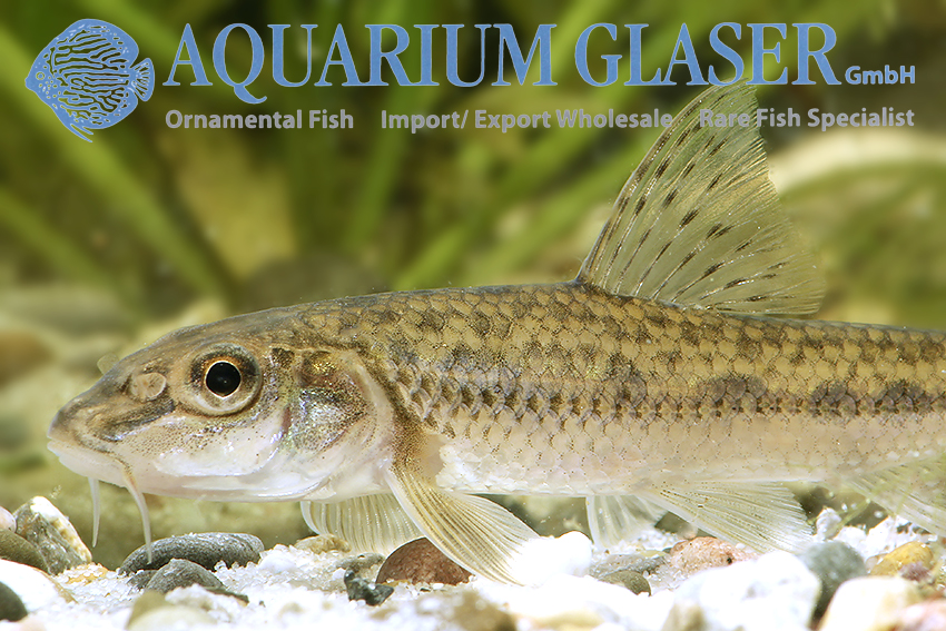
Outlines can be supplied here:
<path id="1" fill-rule="evenodd" d="M 132 493 L 331 496 L 359 464 L 354 477 L 371 487 L 390 426 L 376 421 L 390 411 L 356 356 L 300 347 L 297 324 L 292 310 L 274 309 L 162 337 L 62 407 L 50 450 L 72 471 Z"/>

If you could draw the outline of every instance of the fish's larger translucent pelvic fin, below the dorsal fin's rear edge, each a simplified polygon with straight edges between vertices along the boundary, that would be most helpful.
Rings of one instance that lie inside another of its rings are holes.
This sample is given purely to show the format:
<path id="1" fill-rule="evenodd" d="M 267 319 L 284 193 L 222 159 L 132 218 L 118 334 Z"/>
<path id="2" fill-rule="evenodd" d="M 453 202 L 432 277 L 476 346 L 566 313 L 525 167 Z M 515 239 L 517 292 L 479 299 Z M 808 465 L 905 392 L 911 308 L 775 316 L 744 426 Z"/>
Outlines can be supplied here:
<path id="1" fill-rule="evenodd" d="M 702 482 L 642 496 L 716 536 L 758 552 L 797 552 L 811 543 L 801 506 L 778 483 Z"/>

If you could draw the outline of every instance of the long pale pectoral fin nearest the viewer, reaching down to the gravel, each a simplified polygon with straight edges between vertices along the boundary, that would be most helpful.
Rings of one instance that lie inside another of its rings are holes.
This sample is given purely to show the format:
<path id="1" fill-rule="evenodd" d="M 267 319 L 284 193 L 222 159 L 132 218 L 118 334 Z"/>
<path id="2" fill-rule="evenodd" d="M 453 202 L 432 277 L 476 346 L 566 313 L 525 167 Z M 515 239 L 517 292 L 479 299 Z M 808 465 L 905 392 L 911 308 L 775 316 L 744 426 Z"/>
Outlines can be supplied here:
<path id="1" fill-rule="evenodd" d="M 539 535 L 512 513 L 483 497 L 437 489 L 407 467 L 386 477 L 404 511 L 444 554 L 481 576 L 522 582 L 520 552 Z"/>

